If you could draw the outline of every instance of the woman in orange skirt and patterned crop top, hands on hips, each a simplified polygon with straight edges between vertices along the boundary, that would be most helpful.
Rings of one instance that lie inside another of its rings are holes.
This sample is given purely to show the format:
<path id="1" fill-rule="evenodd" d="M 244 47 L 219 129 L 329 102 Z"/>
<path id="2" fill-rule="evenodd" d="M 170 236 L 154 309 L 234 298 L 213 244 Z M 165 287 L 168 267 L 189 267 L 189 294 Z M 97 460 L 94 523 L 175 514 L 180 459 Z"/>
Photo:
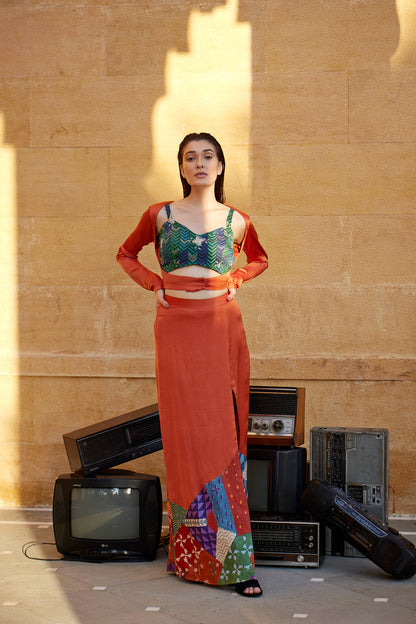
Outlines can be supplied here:
<path id="1" fill-rule="evenodd" d="M 166 466 L 168 571 L 262 593 L 246 495 L 250 360 L 237 288 L 267 268 L 247 215 L 224 204 L 225 159 L 207 133 L 179 147 L 184 197 L 151 206 L 117 260 L 157 300 L 156 379 Z M 153 243 L 162 277 L 137 259 Z M 231 272 L 241 250 L 247 264 Z"/>

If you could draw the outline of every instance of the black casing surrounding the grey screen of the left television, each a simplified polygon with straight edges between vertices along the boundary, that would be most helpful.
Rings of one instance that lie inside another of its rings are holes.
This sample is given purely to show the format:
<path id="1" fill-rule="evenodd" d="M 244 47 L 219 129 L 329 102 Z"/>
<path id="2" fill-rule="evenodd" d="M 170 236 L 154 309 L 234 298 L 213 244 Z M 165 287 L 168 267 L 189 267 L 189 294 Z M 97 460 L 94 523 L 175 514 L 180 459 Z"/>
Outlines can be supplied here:
<path id="1" fill-rule="evenodd" d="M 74 537 L 71 533 L 73 488 L 138 490 L 139 536 L 136 539 L 113 540 Z M 140 561 L 151 561 L 156 556 L 162 527 L 162 494 L 158 476 L 127 470 L 108 470 L 91 477 L 61 474 L 55 481 L 52 511 L 56 548 L 65 556 L 92 560 L 134 558 Z"/>

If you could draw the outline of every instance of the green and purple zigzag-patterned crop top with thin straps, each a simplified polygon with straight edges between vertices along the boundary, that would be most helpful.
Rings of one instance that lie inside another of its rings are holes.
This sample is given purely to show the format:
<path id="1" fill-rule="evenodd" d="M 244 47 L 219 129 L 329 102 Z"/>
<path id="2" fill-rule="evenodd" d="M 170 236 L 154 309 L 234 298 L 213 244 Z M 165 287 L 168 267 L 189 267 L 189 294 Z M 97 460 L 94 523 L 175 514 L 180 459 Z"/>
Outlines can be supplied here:
<path id="1" fill-rule="evenodd" d="M 167 221 L 160 228 L 160 265 L 166 273 L 182 267 L 198 265 L 227 273 L 235 262 L 231 227 L 233 209 L 227 216 L 225 227 L 204 234 L 195 234 L 182 223 L 175 221 L 169 204 L 165 206 Z"/>

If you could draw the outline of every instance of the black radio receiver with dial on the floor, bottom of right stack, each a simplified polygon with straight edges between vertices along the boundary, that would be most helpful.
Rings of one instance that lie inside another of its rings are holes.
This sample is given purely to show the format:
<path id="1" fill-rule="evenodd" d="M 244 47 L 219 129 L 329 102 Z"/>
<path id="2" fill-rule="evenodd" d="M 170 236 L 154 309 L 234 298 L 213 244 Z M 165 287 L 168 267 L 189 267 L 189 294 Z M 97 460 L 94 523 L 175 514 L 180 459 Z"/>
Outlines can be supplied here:
<path id="1" fill-rule="evenodd" d="M 319 567 L 319 522 L 253 517 L 251 531 L 257 565 Z"/>

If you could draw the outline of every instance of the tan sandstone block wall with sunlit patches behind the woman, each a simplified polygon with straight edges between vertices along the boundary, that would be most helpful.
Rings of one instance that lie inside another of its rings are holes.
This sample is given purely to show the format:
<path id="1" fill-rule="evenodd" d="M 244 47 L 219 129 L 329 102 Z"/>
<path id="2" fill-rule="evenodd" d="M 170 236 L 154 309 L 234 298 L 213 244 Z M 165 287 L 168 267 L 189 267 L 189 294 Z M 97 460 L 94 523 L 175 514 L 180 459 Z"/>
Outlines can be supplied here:
<path id="1" fill-rule="evenodd" d="M 414 514 L 415 96 L 411 0 L 3 2 L 1 504 L 50 505 L 65 431 L 156 401 L 153 295 L 115 253 L 207 130 L 270 257 L 238 293 L 253 382 L 306 387 L 306 446 L 387 427 Z"/>

